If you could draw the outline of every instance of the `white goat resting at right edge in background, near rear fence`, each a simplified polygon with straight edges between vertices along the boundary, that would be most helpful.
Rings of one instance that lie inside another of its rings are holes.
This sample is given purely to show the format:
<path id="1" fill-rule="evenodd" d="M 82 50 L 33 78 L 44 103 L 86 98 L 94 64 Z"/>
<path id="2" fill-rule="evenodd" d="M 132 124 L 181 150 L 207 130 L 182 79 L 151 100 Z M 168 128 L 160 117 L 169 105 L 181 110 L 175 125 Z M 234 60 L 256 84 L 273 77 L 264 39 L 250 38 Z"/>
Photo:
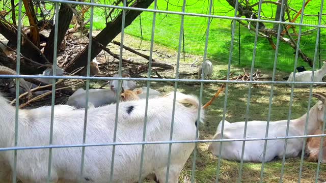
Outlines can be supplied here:
<path id="1" fill-rule="evenodd" d="M 324 64 L 319 70 L 316 70 L 314 72 L 314 82 L 322 82 L 322 78 L 326 75 L 326 61 L 323 62 Z M 300 82 L 310 82 L 311 81 L 311 75 L 312 71 L 303 71 L 295 73 L 294 81 L 300 81 Z M 292 81 L 293 79 L 293 72 L 289 75 L 289 78 L 287 81 Z M 296 84 L 298 86 L 304 86 L 308 84 Z"/>

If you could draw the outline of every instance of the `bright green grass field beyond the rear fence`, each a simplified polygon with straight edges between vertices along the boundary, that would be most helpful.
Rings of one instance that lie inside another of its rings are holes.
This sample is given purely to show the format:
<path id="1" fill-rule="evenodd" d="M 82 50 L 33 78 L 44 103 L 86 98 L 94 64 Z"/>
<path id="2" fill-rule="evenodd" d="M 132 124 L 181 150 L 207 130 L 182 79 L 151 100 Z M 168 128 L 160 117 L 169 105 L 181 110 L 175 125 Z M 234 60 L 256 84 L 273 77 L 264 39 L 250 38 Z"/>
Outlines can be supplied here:
<path id="1" fill-rule="evenodd" d="M 258 2 L 258 0 L 255 0 Z M 110 4 L 107 1 L 100 0 L 101 4 Z M 158 1 L 157 9 L 159 10 L 169 10 L 175 12 L 181 12 L 183 1 L 179 0 L 169 0 Z M 199 13 L 208 14 L 209 1 L 206 0 L 187 0 L 185 12 L 188 13 Z M 300 10 L 302 7 L 302 1 L 292 0 L 289 1 L 289 6 Z M 51 6 L 47 6 L 50 9 Z M 149 9 L 153 9 L 154 4 L 152 4 Z M 18 8 L 17 8 L 18 9 Z M 320 2 L 311 1 L 305 8 L 305 14 L 316 14 L 320 9 Z M 323 12 L 325 12 L 325 8 Z M 24 8 L 23 8 L 24 11 Z M 262 6 L 263 16 L 271 17 L 276 11 L 275 5 L 263 4 Z M 52 11 L 53 12 L 53 11 Z M 89 12 L 88 12 L 89 13 Z M 234 11 L 231 6 L 226 1 L 214 1 L 212 14 L 222 15 L 222 16 L 234 16 Z M 295 13 L 292 11 L 291 16 L 293 17 Z M 89 14 L 86 15 L 89 17 Z M 105 27 L 104 20 L 104 9 L 94 8 L 94 28 L 102 29 Z M 301 16 L 297 18 L 295 22 L 300 21 Z M 324 16 L 323 16 L 324 18 Z M 138 17 L 134 22 L 125 29 L 125 32 L 129 35 L 142 38 L 143 40 L 151 39 L 151 29 L 152 29 L 152 19 L 153 13 L 143 12 L 141 17 Z M 265 18 L 267 19 L 267 18 Z M 185 16 L 184 17 L 184 44 L 182 44 L 181 51 L 191 54 L 203 55 L 205 48 L 205 33 L 207 28 L 207 18 L 195 17 L 195 16 Z M 304 16 L 303 22 L 307 24 L 317 24 L 317 17 Z M 141 23 L 140 23 L 141 22 Z M 323 22 L 323 21 L 322 21 Z M 23 21 L 24 25 L 28 25 L 28 19 L 25 17 Z M 174 50 L 178 50 L 179 46 L 179 34 L 180 34 L 180 15 L 172 14 L 156 14 L 155 22 L 155 36 L 154 41 L 157 44 L 167 46 Z M 267 27 L 273 27 L 273 25 L 266 23 Z M 303 31 L 311 29 L 312 27 L 302 27 Z M 298 27 L 296 27 L 298 31 Z M 238 26 L 235 30 L 235 41 L 232 54 L 232 64 L 240 66 L 250 66 L 253 61 L 253 51 L 254 51 L 254 33 L 250 33 L 247 27 Z M 240 34 L 240 37 L 238 36 Z M 326 47 L 325 41 L 326 30 L 321 29 L 320 38 L 320 49 L 321 49 L 321 59 L 326 58 L 326 53 L 323 51 Z M 301 38 L 300 48 L 308 57 L 313 58 L 315 52 L 317 32 L 314 31 L 309 35 L 303 36 Z M 273 38 L 276 43 L 276 38 Z M 240 44 L 240 45 L 239 45 Z M 239 49 L 240 46 L 240 49 Z M 229 61 L 231 47 L 231 21 L 226 19 L 212 19 L 209 31 L 208 39 L 208 58 L 218 59 L 222 62 L 227 63 Z M 291 72 L 293 71 L 295 55 L 294 50 L 289 47 L 288 44 L 280 42 L 278 57 L 277 57 L 277 69 Z M 265 38 L 258 37 L 257 40 L 257 51 L 255 54 L 255 66 L 259 68 L 271 69 L 274 66 L 276 51 L 271 48 L 268 41 Z M 318 60 L 318 54 L 317 54 Z M 318 63 L 318 62 L 317 62 Z M 298 65 L 308 66 L 304 63 L 302 58 L 298 58 Z"/>

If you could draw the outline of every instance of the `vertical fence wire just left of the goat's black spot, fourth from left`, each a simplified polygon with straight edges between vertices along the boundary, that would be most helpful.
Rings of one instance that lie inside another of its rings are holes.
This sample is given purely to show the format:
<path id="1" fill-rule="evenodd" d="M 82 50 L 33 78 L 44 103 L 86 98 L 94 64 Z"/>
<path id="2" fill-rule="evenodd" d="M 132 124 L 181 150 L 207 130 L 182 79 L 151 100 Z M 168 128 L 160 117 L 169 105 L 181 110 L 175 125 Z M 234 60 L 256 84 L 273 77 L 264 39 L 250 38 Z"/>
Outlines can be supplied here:
<path id="1" fill-rule="evenodd" d="M 127 6 L 127 0 L 123 0 L 123 7 Z M 124 41 L 124 28 L 125 28 L 125 20 L 126 20 L 126 10 L 122 10 L 122 23 L 121 23 L 121 40 L 120 40 L 120 59 L 119 59 L 119 71 L 118 77 L 121 78 L 122 76 L 122 53 L 123 53 L 123 41 Z M 116 142 L 117 139 L 117 128 L 118 128 L 118 114 L 119 114 L 119 102 L 120 102 L 120 88 L 122 85 L 122 81 L 119 80 L 118 82 L 118 91 L 116 96 L 116 116 L 115 116 L 115 124 L 114 124 L 114 133 L 113 133 L 113 142 Z M 114 158 L 116 153 L 116 145 L 112 145 L 112 157 L 111 157 L 111 168 L 110 168 L 110 183 L 114 182 Z"/>

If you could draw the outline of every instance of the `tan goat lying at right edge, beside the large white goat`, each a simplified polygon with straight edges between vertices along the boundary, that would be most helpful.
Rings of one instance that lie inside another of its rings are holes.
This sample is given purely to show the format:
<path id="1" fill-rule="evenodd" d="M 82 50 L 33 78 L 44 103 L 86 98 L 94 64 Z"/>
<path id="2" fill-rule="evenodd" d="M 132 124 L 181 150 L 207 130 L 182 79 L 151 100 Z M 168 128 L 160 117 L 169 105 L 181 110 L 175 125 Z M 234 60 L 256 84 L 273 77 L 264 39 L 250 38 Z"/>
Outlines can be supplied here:
<path id="1" fill-rule="evenodd" d="M 321 130 L 316 130 L 312 135 L 321 134 Z M 323 137 L 322 143 L 322 157 L 320 162 L 326 163 L 326 138 Z M 307 139 L 306 153 L 309 154 L 308 161 L 316 162 L 318 161 L 319 156 L 319 147 L 320 147 L 321 137 L 310 137 Z"/>

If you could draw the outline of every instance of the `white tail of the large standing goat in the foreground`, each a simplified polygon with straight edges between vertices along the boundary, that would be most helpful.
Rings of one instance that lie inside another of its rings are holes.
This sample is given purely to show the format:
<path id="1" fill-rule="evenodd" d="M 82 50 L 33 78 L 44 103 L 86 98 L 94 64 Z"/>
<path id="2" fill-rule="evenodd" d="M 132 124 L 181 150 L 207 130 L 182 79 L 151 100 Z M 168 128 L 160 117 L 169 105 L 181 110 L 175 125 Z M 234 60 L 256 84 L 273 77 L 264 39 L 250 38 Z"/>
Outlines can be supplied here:
<path id="1" fill-rule="evenodd" d="M 171 92 L 167 95 L 165 95 L 164 97 L 166 98 L 170 98 L 173 100 L 174 98 L 174 92 Z M 199 100 L 198 97 L 194 96 L 194 95 L 185 95 L 182 94 L 180 92 L 176 93 L 176 102 L 183 104 L 184 106 L 189 106 L 191 105 L 192 112 L 194 113 L 198 113 L 198 109 L 199 107 L 201 107 L 201 112 L 200 112 L 200 122 L 203 123 L 202 119 L 204 118 L 204 108 L 199 104 Z"/>

